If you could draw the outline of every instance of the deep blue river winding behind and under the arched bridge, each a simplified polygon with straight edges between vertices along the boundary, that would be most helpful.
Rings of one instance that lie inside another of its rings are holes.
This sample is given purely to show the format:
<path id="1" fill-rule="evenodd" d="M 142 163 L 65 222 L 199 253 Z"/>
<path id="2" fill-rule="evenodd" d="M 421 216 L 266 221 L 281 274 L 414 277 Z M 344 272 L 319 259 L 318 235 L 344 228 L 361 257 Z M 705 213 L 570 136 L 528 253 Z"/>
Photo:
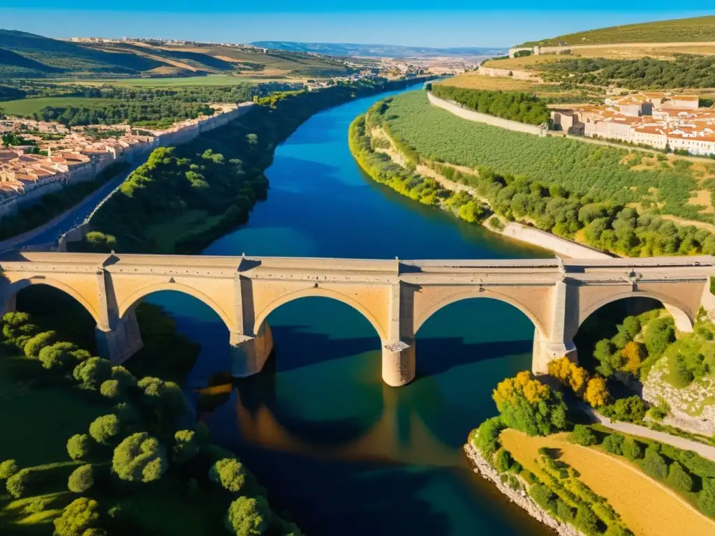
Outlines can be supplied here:
<path id="1" fill-rule="evenodd" d="M 415 91 L 415 90 L 412 90 Z M 268 199 L 204 254 L 482 259 L 550 257 L 371 181 L 347 148 L 350 121 L 385 94 L 313 116 L 277 148 Z M 177 293 L 152 302 L 202 344 L 189 387 L 225 383 L 228 333 Z M 546 529 L 471 471 L 462 445 L 495 414 L 498 381 L 531 368 L 533 325 L 491 299 L 451 304 L 420 329 L 418 378 L 380 378 L 380 339 L 360 313 L 325 298 L 268 317 L 275 358 L 202 412 L 279 510 L 310 536 L 542 535 Z M 217 387 L 217 392 L 222 392 Z M 206 398 L 202 399 L 202 403 Z"/>

